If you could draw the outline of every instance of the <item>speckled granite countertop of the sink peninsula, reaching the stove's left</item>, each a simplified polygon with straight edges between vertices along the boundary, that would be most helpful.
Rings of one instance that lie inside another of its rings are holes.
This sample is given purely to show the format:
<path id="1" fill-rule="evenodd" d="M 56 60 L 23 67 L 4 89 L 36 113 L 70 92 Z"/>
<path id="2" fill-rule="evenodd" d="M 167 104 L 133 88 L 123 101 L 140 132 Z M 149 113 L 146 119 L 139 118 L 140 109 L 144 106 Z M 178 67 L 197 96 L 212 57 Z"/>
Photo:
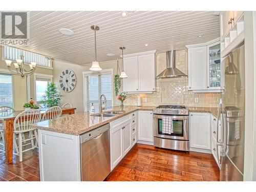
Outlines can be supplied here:
<path id="1" fill-rule="evenodd" d="M 127 114 L 138 110 L 151 111 L 155 107 L 156 106 L 124 106 L 124 113 L 115 115 L 113 117 L 94 117 L 91 116 L 92 113 L 90 112 L 82 112 L 63 116 L 57 119 L 40 121 L 30 126 L 31 128 L 39 130 L 65 133 L 69 135 L 81 135 Z M 121 108 L 120 106 L 114 106 L 111 110 L 108 111 L 121 111 Z"/>

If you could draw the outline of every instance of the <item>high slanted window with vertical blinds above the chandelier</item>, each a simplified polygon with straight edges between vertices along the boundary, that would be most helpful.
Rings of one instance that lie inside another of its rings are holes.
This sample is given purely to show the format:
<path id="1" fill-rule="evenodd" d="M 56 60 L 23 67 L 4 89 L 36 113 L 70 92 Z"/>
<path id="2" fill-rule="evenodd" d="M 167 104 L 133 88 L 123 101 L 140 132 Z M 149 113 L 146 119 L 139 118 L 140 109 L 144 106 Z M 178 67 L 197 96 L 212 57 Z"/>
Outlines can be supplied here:
<path id="1" fill-rule="evenodd" d="M 20 59 L 20 54 L 23 53 L 24 55 L 24 62 L 29 63 L 29 62 L 36 62 L 37 65 L 39 66 L 44 66 L 44 67 L 52 67 L 52 60 L 51 58 L 45 56 L 45 55 L 40 55 L 37 53 L 32 53 L 30 51 L 25 51 L 22 49 L 14 48 L 14 47 L 9 47 L 9 46 L 4 46 L 3 49 L 3 59 L 9 59 L 9 60 L 16 60 Z"/>

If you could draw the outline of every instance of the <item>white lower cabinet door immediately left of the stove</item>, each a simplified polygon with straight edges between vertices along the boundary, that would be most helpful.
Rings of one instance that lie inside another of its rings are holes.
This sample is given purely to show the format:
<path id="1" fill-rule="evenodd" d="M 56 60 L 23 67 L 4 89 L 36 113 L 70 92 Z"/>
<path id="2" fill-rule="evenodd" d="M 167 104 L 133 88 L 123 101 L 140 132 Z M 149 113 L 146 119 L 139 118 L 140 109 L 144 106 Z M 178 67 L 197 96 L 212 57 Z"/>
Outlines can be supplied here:
<path id="1" fill-rule="evenodd" d="M 153 142 L 153 112 L 139 111 L 138 113 L 139 140 Z"/>

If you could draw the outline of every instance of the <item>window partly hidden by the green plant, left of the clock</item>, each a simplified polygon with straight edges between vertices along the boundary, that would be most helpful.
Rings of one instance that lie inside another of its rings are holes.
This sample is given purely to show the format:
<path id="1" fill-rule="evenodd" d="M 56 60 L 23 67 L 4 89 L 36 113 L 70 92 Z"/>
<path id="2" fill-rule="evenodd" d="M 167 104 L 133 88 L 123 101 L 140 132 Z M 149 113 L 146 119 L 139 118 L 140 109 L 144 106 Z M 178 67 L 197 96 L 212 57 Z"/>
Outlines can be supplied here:
<path id="1" fill-rule="evenodd" d="M 42 96 L 45 94 L 47 89 L 47 83 L 51 82 L 52 78 L 35 76 L 35 91 L 36 91 L 36 102 L 40 103 Z"/>

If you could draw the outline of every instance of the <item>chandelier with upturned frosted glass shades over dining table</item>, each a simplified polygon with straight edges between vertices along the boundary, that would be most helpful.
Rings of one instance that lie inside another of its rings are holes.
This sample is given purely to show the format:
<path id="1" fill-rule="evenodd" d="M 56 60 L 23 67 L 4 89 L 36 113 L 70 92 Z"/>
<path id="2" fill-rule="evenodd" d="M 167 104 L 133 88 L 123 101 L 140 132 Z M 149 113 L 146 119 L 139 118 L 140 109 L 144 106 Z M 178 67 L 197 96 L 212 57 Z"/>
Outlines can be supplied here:
<path id="1" fill-rule="evenodd" d="M 23 53 L 20 54 L 20 59 L 16 59 L 16 62 L 13 62 L 13 65 L 14 65 L 16 71 L 11 69 L 11 64 L 12 64 L 11 60 L 5 60 L 5 62 L 6 62 L 6 66 L 7 66 L 8 70 L 12 74 L 20 75 L 22 77 L 33 74 L 35 71 L 35 67 L 36 67 L 36 62 L 30 62 L 30 64 L 29 64 L 30 70 L 27 71 L 25 69 Z"/>

